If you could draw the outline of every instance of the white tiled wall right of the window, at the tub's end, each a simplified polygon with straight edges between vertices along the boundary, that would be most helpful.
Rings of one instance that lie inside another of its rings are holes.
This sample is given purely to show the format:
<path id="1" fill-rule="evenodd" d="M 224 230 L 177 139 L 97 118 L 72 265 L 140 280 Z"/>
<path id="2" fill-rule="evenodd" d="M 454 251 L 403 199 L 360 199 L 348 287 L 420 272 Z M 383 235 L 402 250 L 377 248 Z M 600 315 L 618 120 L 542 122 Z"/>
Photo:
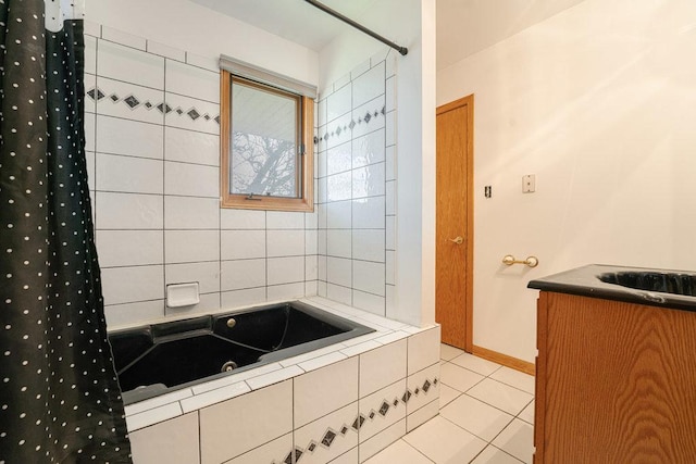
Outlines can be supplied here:
<path id="1" fill-rule="evenodd" d="M 318 293 L 389 316 L 395 294 L 396 52 L 366 60 L 318 104 Z"/>

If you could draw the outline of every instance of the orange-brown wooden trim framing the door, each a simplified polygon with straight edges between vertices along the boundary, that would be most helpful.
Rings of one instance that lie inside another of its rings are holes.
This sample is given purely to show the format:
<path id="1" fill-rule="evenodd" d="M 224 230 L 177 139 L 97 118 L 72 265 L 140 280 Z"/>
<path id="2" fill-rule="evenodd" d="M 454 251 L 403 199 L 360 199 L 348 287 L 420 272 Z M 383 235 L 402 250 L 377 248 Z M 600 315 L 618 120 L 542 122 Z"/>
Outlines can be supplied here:
<path id="1" fill-rule="evenodd" d="M 465 330 L 464 330 L 464 351 L 471 353 L 473 351 L 473 321 L 474 321 L 474 95 L 462 97 L 458 100 L 445 103 L 435 109 L 435 116 L 455 110 L 460 106 L 467 106 L 467 247 L 465 265 L 467 277 L 464 281 L 465 293 Z M 436 160 L 437 163 L 437 160 Z M 437 186 L 436 186 L 437 188 Z M 435 214 L 437 215 L 437 205 Z M 437 276 L 436 276 L 437 277 Z"/>

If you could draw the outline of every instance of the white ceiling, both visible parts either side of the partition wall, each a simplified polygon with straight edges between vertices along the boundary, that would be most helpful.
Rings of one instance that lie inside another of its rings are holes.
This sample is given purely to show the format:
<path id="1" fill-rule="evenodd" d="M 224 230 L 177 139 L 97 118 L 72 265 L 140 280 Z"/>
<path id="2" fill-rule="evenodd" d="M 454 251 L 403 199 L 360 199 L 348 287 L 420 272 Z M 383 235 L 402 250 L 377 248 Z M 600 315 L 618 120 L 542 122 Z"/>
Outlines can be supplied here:
<path id="1" fill-rule="evenodd" d="M 318 52 L 350 28 L 303 0 L 190 1 Z M 320 1 L 360 22 L 373 4 L 383 0 Z M 582 1 L 436 0 L 437 68 L 448 67 Z"/>

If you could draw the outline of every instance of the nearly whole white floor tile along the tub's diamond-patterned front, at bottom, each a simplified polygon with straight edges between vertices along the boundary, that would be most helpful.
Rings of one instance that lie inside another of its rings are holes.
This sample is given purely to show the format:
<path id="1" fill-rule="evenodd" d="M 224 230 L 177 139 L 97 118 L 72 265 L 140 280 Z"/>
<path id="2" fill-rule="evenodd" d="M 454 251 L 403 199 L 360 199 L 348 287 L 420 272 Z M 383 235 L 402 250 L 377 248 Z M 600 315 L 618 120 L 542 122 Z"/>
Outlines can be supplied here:
<path id="1" fill-rule="evenodd" d="M 437 464 L 468 463 L 486 447 L 485 441 L 439 416 L 403 440 Z"/>

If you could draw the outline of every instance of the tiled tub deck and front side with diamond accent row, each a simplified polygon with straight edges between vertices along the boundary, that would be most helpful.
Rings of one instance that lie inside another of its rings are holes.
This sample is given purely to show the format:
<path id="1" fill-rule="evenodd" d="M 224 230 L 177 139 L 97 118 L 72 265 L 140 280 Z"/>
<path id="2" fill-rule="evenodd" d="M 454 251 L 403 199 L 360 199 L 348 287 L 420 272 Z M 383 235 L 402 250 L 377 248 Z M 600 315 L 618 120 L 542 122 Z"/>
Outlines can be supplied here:
<path id="1" fill-rule="evenodd" d="M 377 331 L 126 406 L 135 462 L 358 463 L 437 415 L 439 326 L 302 301 Z"/>

